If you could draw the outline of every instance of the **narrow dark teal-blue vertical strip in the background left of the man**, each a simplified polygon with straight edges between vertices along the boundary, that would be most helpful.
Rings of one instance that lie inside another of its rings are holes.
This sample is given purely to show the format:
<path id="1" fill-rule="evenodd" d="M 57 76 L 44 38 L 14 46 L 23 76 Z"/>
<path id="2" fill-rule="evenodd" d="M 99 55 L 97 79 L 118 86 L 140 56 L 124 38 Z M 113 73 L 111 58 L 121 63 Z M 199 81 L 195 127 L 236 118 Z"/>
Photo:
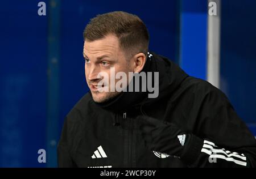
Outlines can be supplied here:
<path id="1" fill-rule="evenodd" d="M 57 167 L 60 114 L 60 0 L 48 5 L 47 167 Z"/>

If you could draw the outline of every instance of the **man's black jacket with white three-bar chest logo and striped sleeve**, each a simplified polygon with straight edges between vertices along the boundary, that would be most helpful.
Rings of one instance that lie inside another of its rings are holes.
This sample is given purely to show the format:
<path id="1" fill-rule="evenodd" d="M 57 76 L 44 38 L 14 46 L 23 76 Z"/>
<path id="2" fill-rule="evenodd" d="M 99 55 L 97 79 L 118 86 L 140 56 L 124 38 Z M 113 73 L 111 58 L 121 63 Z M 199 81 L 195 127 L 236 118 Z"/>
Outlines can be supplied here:
<path id="1" fill-rule="evenodd" d="M 59 167 L 255 167 L 256 140 L 228 98 L 210 83 L 152 53 L 143 71 L 159 72 L 159 96 L 122 92 L 98 104 L 88 92 L 67 115 Z M 152 152 L 138 116 L 173 123 L 189 134 L 183 157 Z"/>

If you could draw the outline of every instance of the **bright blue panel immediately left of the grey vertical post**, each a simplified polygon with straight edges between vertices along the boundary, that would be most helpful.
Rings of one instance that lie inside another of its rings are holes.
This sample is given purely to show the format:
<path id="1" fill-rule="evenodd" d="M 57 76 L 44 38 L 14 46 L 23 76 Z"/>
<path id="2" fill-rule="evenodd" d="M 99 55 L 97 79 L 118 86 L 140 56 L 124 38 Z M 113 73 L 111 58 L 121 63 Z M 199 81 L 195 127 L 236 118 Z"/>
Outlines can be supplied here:
<path id="1" fill-rule="evenodd" d="M 196 78 L 207 74 L 207 1 L 182 0 L 180 12 L 180 66 Z"/>

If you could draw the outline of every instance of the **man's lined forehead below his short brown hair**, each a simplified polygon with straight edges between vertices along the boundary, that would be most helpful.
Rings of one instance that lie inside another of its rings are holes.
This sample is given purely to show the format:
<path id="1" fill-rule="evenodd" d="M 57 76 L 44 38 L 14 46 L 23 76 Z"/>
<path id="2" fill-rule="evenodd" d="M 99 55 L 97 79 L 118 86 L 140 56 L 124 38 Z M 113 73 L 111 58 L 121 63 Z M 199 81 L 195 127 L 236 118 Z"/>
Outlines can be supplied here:
<path id="1" fill-rule="evenodd" d="M 84 42 L 84 54 L 87 56 L 96 54 L 117 54 L 119 51 L 118 38 L 109 35 L 104 39 Z"/>

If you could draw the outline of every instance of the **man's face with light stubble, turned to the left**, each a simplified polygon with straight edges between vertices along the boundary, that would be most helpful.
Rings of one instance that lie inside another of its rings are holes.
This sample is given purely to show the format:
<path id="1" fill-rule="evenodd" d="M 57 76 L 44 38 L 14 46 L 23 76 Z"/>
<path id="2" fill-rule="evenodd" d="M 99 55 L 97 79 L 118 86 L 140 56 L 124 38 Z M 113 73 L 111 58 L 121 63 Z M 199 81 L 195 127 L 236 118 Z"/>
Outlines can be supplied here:
<path id="1" fill-rule="evenodd" d="M 119 93 L 110 91 L 110 67 L 114 67 L 115 74 L 122 71 L 128 76 L 129 71 L 133 71 L 131 60 L 127 61 L 125 54 L 119 48 L 118 38 L 114 35 L 108 35 L 104 39 L 92 42 L 85 41 L 84 58 L 86 82 L 92 92 L 93 100 L 97 103 L 108 101 Z M 108 74 L 108 80 L 98 75 L 101 72 Z M 108 92 L 100 92 L 97 88 L 98 82 L 104 78 L 106 80 L 104 88 L 108 88 Z M 115 79 L 115 83 L 117 81 L 118 79 Z"/>

